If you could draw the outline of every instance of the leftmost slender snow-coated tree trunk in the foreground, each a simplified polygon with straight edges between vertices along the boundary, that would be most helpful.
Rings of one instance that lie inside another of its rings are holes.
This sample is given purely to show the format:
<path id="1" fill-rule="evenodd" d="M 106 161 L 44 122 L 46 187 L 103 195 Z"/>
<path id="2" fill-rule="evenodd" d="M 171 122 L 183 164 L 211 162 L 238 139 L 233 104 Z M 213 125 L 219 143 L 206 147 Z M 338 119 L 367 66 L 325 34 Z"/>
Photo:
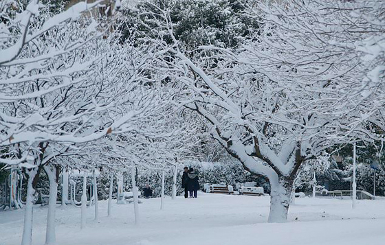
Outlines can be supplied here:
<path id="1" fill-rule="evenodd" d="M 33 222 L 33 212 L 34 212 L 34 193 L 35 189 L 32 186 L 34 177 L 37 174 L 36 168 L 34 170 L 26 170 L 28 174 L 28 185 L 27 185 L 27 201 L 25 202 L 25 213 L 24 213 L 24 227 L 23 227 L 23 238 L 21 240 L 21 245 L 31 245 L 32 244 L 32 222 Z"/>

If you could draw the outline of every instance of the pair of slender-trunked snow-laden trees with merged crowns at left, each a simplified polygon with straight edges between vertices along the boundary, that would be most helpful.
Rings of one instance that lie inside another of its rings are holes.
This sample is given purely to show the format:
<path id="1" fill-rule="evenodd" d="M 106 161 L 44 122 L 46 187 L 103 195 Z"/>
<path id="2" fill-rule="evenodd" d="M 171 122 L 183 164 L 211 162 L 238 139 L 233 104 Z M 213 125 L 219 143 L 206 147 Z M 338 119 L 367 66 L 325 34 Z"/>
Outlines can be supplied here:
<path id="1" fill-rule="evenodd" d="M 28 178 L 21 244 L 32 243 L 34 192 L 47 174 L 45 243 L 54 244 L 61 170 L 164 168 L 181 151 L 183 138 L 174 138 L 184 126 L 153 70 L 156 47 L 137 45 L 133 27 L 122 38 L 124 21 L 97 22 L 99 1 L 58 14 L 38 0 L 22 3 L 0 3 L 0 163 Z"/>

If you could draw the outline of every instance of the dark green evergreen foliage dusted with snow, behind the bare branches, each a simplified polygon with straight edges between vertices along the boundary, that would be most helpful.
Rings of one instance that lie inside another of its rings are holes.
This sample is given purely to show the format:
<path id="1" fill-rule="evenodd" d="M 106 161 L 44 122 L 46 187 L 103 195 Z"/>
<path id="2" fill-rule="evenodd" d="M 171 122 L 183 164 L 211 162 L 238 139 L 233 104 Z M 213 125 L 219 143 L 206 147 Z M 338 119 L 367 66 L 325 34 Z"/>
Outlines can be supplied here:
<path id="1" fill-rule="evenodd" d="M 251 2 L 243 1 L 243 3 Z M 134 18 L 139 16 L 143 23 L 138 29 L 145 30 L 146 26 L 154 25 L 154 19 L 142 16 L 138 12 L 159 12 L 169 8 L 175 37 L 188 49 L 195 49 L 200 45 L 236 47 L 241 38 L 248 35 L 250 26 L 258 27 L 256 21 L 243 14 L 245 10 L 243 3 L 234 0 L 150 0 L 140 2 L 135 10 L 131 10 L 128 14 Z M 157 17 L 154 15 L 153 18 Z M 157 35 L 156 31 L 151 34 Z M 167 38 L 166 41 L 172 40 Z"/>

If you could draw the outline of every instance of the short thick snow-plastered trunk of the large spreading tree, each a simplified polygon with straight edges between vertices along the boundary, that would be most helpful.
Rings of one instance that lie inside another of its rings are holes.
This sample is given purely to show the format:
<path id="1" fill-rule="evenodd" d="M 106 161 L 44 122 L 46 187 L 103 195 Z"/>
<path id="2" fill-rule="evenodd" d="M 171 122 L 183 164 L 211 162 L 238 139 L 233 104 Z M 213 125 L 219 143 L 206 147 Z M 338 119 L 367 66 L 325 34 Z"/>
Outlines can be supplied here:
<path id="1" fill-rule="evenodd" d="M 276 181 L 270 180 L 272 192 L 270 194 L 269 223 L 281 223 L 287 220 L 293 181 L 280 177 Z"/>

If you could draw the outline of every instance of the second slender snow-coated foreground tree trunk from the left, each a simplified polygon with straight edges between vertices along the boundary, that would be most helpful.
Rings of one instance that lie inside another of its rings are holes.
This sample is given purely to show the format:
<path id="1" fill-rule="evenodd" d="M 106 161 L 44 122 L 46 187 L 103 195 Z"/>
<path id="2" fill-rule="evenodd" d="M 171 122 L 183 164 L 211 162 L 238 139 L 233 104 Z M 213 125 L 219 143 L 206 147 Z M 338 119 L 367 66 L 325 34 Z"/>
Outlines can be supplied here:
<path id="1" fill-rule="evenodd" d="M 52 168 L 53 167 L 53 168 Z M 48 202 L 47 230 L 45 232 L 45 244 L 56 243 L 55 211 L 58 196 L 58 183 L 56 182 L 56 167 L 45 165 L 44 170 L 50 180 L 50 200 Z"/>

